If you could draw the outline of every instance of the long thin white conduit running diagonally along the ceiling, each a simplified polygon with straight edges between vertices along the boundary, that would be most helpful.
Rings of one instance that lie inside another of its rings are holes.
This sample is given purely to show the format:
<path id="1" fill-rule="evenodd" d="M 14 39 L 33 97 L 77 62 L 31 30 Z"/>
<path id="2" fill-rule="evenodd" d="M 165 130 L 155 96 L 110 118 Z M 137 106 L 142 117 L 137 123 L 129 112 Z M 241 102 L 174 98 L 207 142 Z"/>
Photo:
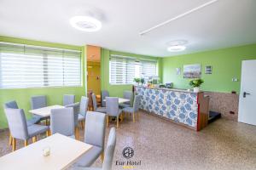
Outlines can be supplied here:
<path id="1" fill-rule="evenodd" d="M 169 23 L 172 22 L 173 20 L 180 19 L 180 18 L 182 18 L 182 17 L 184 17 L 184 16 L 186 16 L 186 15 L 188 15 L 188 14 L 194 13 L 195 11 L 197 11 L 197 10 L 199 10 L 199 9 L 201 9 L 201 8 L 205 8 L 205 7 L 207 7 L 208 5 L 211 5 L 212 3 L 216 3 L 216 2 L 218 2 L 218 0 L 212 0 L 212 1 L 209 1 L 209 2 L 207 2 L 207 3 L 203 3 L 202 5 L 200 5 L 200 6 L 196 7 L 196 8 L 192 8 L 192 9 L 190 9 L 189 11 L 187 11 L 187 12 L 185 12 L 185 13 L 183 13 L 183 14 L 178 14 L 177 16 L 173 17 L 173 18 L 170 19 L 170 20 L 166 20 L 165 22 L 162 22 L 162 23 L 160 23 L 160 24 L 158 24 L 158 25 L 156 25 L 156 26 L 153 26 L 153 27 L 151 27 L 151 28 L 148 28 L 147 30 L 141 31 L 139 34 L 140 34 L 141 36 L 143 36 L 143 35 L 147 34 L 149 31 L 153 31 L 153 30 L 159 28 L 160 26 L 166 26 L 167 24 L 169 24 Z"/>

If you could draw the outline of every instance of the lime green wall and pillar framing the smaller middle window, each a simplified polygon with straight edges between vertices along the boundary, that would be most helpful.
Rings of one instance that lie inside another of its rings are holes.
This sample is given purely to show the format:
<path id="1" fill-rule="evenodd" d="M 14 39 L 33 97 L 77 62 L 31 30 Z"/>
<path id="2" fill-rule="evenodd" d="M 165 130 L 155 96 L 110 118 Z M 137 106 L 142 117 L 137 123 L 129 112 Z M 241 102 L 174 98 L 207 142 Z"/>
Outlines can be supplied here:
<path id="1" fill-rule="evenodd" d="M 108 90 L 110 96 L 122 97 L 125 90 L 131 90 L 132 85 L 111 85 L 109 84 L 109 56 L 111 54 L 125 55 L 135 57 L 137 59 L 158 59 L 159 76 L 162 77 L 161 58 L 155 58 L 151 56 L 128 54 L 117 51 L 111 51 L 106 48 L 102 48 L 101 51 L 101 88 L 102 90 Z"/>

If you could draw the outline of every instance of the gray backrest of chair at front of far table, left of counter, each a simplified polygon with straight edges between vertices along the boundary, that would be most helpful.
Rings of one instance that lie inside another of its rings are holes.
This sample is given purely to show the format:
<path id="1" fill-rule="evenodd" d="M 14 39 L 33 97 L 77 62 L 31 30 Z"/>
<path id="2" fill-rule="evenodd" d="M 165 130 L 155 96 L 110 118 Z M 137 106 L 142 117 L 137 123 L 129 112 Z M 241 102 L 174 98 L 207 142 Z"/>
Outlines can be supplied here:
<path id="1" fill-rule="evenodd" d="M 118 116 L 119 115 L 119 98 L 117 97 L 107 97 L 107 114 L 109 116 Z"/>

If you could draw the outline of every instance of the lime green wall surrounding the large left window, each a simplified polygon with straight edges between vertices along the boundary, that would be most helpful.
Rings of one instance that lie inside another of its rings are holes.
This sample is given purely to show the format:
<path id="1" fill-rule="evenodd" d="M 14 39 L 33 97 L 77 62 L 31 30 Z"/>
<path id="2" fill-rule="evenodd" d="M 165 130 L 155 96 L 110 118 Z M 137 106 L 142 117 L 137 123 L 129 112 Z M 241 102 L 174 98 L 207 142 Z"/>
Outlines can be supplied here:
<path id="1" fill-rule="evenodd" d="M 38 42 L 14 37 L 1 37 L 0 42 L 15 42 L 29 45 L 45 46 L 51 48 L 67 48 L 82 51 L 81 67 L 83 73 L 82 87 L 65 87 L 65 88 L 21 88 L 21 89 L 0 89 L 0 128 L 8 127 L 5 114 L 3 112 L 3 104 L 9 100 L 15 99 L 20 108 L 26 112 L 26 117 L 30 118 L 30 98 L 33 95 L 47 95 L 48 105 L 61 105 L 63 94 L 75 94 L 76 100 L 79 101 L 82 95 L 86 93 L 86 77 L 84 77 L 84 70 L 86 69 L 86 46 L 78 47 L 67 44 Z"/>

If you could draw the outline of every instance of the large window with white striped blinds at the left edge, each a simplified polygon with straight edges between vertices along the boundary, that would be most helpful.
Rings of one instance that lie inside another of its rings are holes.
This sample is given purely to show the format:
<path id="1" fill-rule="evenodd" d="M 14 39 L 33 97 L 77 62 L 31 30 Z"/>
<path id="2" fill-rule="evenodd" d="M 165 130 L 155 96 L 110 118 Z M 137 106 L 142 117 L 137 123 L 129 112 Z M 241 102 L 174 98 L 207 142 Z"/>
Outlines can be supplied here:
<path id="1" fill-rule="evenodd" d="M 0 42 L 0 88 L 81 86 L 81 53 Z"/>

